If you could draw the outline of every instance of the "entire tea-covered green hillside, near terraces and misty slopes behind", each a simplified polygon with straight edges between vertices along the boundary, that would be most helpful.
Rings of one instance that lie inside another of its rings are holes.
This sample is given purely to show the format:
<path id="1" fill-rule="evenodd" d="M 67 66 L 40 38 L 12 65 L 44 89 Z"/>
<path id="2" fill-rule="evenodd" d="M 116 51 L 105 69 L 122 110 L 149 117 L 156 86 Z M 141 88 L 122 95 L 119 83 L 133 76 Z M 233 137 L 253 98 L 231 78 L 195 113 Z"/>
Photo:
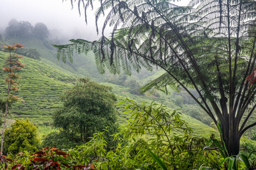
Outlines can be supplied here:
<path id="1" fill-rule="evenodd" d="M 9 40 L 8 44 L 15 42 Z M 21 40 L 21 44 L 25 44 L 25 47 L 36 48 L 41 54 L 41 60 L 34 60 L 28 57 L 23 57 L 22 62 L 26 64 L 21 70 L 20 89 L 18 95 L 22 96 L 25 103 L 15 103 L 11 108 L 11 117 L 15 118 L 29 118 L 33 123 L 36 123 L 41 128 L 41 133 L 46 134 L 47 130 L 50 130 L 50 124 L 52 122 L 51 115 L 58 106 L 60 106 L 60 96 L 65 93 L 65 90 L 69 89 L 75 84 L 75 79 L 79 77 L 90 77 L 90 79 L 97 82 L 104 81 L 116 81 L 119 76 L 113 76 L 111 74 L 100 74 L 97 72 L 93 55 L 89 54 L 86 57 L 84 55 L 77 55 L 74 57 L 73 64 L 70 62 L 63 63 L 56 58 L 55 49 L 49 46 L 49 42 L 42 42 L 41 40 L 29 39 Z M 7 42 L 6 42 L 7 44 Z M 7 54 L 0 52 L 0 63 L 4 63 Z M 2 72 L 2 71 L 1 71 Z M 3 73 L 3 72 L 2 72 Z M 154 79 L 161 74 L 159 71 L 148 72 L 143 71 L 139 74 L 133 74 L 132 77 L 127 77 L 125 82 L 128 81 L 128 86 L 119 86 L 112 83 L 103 83 L 113 87 L 113 93 L 117 94 L 118 101 L 124 100 L 126 97 L 132 98 L 138 102 L 151 102 L 156 101 L 164 103 L 170 109 L 182 108 L 178 106 L 176 97 L 172 92 L 171 95 L 159 94 L 158 97 L 152 95 L 134 95 L 130 94 L 129 80 L 137 79 L 139 84 L 145 84 L 150 79 Z M 1 74 L 0 79 L 3 79 Z M 0 97 L 5 95 L 6 84 L 1 81 L 0 84 Z M 122 107 L 118 107 L 119 111 L 119 123 L 126 123 L 129 119 L 129 115 L 123 115 Z M 182 110 L 181 110 L 182 112 Z M 191 118 L 189 115 L 183 114 L 183 119 L 188 122 L 188 125 L 193 128 L 196 135 L 207 135 L 215 132 L 213 128 L 201 123 L 195 118 Z M 46 126 L 43 126 L 46 125 Z M 45 128 L 42 128 L 45 127 Z M 47 128 L 48 127 L 48 128 Z"/>

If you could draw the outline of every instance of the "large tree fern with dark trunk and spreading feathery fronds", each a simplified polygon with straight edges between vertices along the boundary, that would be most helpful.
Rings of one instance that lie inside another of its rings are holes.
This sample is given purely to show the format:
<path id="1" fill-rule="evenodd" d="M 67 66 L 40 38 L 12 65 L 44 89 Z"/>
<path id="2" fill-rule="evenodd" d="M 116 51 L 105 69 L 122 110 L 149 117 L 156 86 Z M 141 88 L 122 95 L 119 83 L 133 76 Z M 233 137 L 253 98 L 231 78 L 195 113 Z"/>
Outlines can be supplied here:
<path id="1" fill-rule="evenodd" d="M 86 9 L 94 1 L 82 2 L 87 21 Z M 161 67 L 166 74 L 146 89 L 170 85 L 187 91 L 220 127 L 225 154 L 236 155 L 241 136 L 256 125 L 247 123 L 256 108 L 256 79 L 251 74 L 256 60 L 255 8 L 252 0 L 192 0 L 183 7 L 171 0 L 105 0 L 95 14 L 96 25 L 106 16 L 100 40 L 70 40 L 55 47 L 63 58 L 92 50 L 102 73 Z M 106 26 L 113 28 L 110 38 L 105 37 Z"/>

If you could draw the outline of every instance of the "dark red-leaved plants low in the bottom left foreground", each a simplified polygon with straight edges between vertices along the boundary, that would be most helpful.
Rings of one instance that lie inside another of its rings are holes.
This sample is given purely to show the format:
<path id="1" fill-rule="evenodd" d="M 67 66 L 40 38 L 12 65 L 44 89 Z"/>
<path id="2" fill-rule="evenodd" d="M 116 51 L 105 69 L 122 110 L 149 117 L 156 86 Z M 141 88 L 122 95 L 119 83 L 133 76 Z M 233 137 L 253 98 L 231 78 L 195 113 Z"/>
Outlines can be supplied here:
<path id="1" fill-rule="evenodd" d="M 63 152 L 59 149 L 46 147 L 29 156 L 29 164 L 15 164 L 11 169 L 29 169 L 29 170 L 60 170 L 60 169 L 73 169 L 73 170 L 97 170 L 92 164 L 89 165 L 75 165 L 70 162 L 70 154 Z M 13 162 L 11 159 L 1 155 L 1 162 L 4 162 L 4 167 L 7 169 L 6 161 Z"/>

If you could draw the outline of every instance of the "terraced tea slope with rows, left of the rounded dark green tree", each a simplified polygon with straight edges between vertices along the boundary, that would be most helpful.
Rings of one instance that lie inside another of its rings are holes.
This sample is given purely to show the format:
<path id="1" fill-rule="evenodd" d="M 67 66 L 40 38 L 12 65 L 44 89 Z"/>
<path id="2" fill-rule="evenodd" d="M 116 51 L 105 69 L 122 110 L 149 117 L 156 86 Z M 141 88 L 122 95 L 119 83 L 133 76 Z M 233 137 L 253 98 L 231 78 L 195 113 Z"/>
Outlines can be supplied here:
<path id="1" fill-rule="evenodd" d="M 5 52 L 0 52 L 0 63 L 4 63 Z M 29 118 L 36 124 L 48 124 L 50 116 L 60 104 L 60 95 L 75 83 L 75 78 L 50 67 L 43 61 L 23 57 L 24 67 L 20 75 L 18 96 L 22 96 L 25 103 L 15 103 L 11 108 L 11 118 Z M 6 94 L 6 84 L 1 71 L 0 95 Z"/>

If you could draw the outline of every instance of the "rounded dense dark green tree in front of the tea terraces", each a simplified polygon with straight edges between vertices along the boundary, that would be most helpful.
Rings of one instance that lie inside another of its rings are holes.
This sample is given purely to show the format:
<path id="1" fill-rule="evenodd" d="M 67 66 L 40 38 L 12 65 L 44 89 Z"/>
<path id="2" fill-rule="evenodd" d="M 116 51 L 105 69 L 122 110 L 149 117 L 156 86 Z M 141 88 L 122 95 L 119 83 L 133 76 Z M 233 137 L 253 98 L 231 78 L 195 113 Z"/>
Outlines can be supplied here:
<path id="1" fill-rule="evenodd" d="M 109 86 L 79 79 L 61 98 L 63 106 L 54 113 L 53 125 L 77 143 L 88 142 L 95 132 L 106 127 L 114 134 L 117 132 L 116 98 L 110 91 Z"/>

